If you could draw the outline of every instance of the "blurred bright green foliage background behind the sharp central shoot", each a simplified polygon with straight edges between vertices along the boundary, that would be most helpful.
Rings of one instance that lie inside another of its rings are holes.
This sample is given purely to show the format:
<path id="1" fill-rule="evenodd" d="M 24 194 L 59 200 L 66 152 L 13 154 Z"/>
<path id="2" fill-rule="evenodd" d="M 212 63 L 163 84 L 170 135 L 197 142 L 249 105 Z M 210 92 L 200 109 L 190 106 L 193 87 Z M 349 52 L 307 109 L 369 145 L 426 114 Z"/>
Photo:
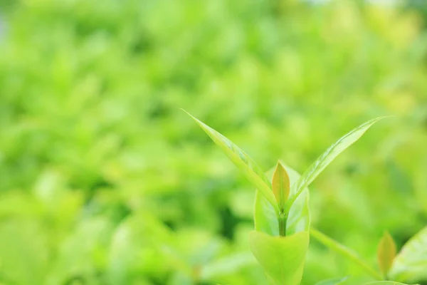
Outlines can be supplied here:
<path id="1" fill-rule="evenodd" d="M 425 226 L 427 6 L 313 2 L 0 0 L 1 284 L 267 284 L 253 187 L 179 108 L 300 172 L 396 115 L 315 181 L 312 224 L 373 266 Z M 312 241 L 303 284 L 347 275 Z"/>

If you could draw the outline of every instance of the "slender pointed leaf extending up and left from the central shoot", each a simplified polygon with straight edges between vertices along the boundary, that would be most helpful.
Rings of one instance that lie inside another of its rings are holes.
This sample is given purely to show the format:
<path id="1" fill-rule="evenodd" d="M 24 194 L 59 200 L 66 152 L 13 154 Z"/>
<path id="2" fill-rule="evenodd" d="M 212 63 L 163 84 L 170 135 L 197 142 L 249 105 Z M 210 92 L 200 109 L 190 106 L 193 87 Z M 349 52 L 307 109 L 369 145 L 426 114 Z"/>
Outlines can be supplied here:
<path id="1" fill-rule="evenodd" d="M 246 178 L 248 178 L 248 180 L 263 193 L 268 202 L 273 205 L 275 212 L 278 212 L 278 204 L 275 201 L 273 192 L 271 191 L 270 180 L 265 177 L 263 170 L 256 164 L 256 162 L 253 161 L 246 152 L 243 152 L 243 150 L 231 142 L 231 140 L 228 140 L 228 138 L 209 127 L 209 125 L 206 125 L 197 118 L 194 118 L 190 113 L 186 113 L 189 114 L 197 124 L 199 124 L 199 126 L 206 132 L 206 134 L 209 135 L 216 145 L 221 147 L 221 150 L 223 150 L 231 162 L 233 162 L 234 165 L 236 165 L 236 167 L 246 175 Z"/>

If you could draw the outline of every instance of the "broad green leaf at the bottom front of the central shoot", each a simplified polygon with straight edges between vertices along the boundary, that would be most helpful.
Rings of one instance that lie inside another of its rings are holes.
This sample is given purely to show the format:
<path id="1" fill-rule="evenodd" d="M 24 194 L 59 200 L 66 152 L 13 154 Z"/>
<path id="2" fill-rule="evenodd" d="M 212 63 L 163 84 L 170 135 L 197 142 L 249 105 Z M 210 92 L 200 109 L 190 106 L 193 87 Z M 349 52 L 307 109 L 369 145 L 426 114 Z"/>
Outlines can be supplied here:
<path id="1" fill-rule="evenodd" d="M 275 285 L 300 284 L 308 242 L 308 232 L 287 237 L 271 237 L 256 231 L 249 234 L 253 255 L 263 266 L 270 283 Z"/>

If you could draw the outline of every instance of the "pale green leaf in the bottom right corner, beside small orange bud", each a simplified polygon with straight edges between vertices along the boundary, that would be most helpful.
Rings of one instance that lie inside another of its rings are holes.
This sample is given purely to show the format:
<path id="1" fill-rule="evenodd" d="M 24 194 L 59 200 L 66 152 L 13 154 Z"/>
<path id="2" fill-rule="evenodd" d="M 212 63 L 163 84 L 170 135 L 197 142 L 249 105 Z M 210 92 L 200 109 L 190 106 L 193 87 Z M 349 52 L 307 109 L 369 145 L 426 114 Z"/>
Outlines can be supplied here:
<path id="1" fill-rule="evenodd" d="M 394 259 L 389 276 L 409 282 L 427 278 L 427 227 L 406 242 Z"/>

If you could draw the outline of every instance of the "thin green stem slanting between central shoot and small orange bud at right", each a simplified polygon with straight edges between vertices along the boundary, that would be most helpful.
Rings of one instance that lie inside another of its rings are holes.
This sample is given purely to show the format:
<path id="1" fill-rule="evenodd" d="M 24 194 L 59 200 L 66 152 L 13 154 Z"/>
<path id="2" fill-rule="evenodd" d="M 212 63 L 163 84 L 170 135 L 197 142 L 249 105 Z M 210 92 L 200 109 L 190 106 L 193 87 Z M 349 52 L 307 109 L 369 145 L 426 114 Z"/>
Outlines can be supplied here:
<path id="1" fill-rule="evenodd" d="M 311 228 L 310 235 L 315 239 L 317 239 L 317 241 L 319 241 L 320 243 L 324 244 L 326 247 L 329 247 L 330 249 L 334 250 L 334 252 L 337 252 L 342 256 L 347 257 L 347 259 L 350 259 L 355 264 L 359 265 L 360 268 L 364 269 L 364 271 L 366 271 L 367 274 L 374 277 L 374 279 L 383 280 L 383 277 L 381 276 L 381 274 L 379 274 L 374 269 L 372 269 L 371 266 L 369 266 L 363 259 L 361 259 L 351 249 L 344 247 L 344 245 L 339 244 L 339 242 L 336 242 L 334 239 L 327 237 L 325 234 L 322 234 L 322 232 L 319 232 L 316 229 Z"/>

